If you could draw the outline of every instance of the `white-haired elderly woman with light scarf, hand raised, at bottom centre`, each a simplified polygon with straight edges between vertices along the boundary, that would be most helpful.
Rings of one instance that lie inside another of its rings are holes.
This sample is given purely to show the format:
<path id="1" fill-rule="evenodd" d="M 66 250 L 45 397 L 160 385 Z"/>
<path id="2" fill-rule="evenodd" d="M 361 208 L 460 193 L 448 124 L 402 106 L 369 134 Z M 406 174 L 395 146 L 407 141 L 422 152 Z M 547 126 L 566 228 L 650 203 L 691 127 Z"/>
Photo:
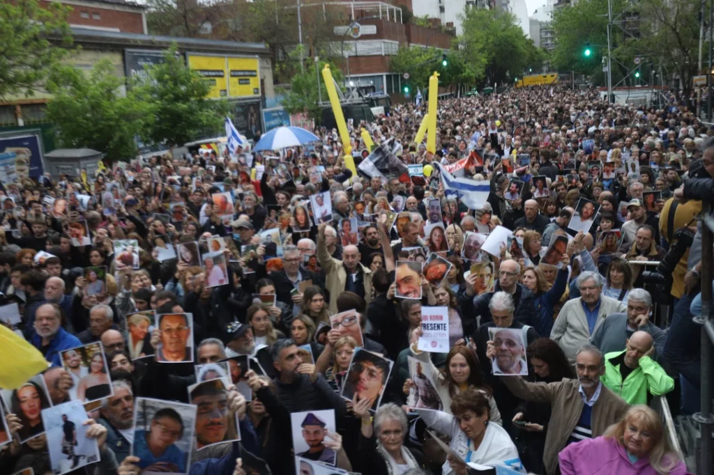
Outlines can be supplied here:
<path id="1" fill-rule="evenodd" d="M 400 407 L 382 404 L 372 422 L 371 400 L 362 399 L 353 404 L 354 413 L 362 419 L 359 449 L 363 474 L 402 475 L 424 466 L 423 455 L 404 446 L 408 424 Z"/>

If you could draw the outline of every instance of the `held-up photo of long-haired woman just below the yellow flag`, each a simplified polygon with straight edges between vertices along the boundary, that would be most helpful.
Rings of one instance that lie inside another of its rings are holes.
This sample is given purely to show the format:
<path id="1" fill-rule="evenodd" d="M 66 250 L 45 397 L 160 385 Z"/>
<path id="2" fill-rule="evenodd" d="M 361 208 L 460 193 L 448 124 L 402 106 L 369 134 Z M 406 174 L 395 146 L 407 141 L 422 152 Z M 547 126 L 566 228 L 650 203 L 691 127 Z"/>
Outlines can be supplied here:
<path id="1" fill-rule="evenodd" d="M 42 434 L 45 430 L 41 412 L 42 409 L 49 408 L 50 403 L 39 382 L 41 378 L 41 376 L 34 377 L 18 389 L 4 392 L 4 395 L 11 393 L 10 400 L 6 399 L 5 402 L 9 403 L 7 406 L 10 408 L 10 412 L 19 417 L 22 424 L 22 429 L 18 433 L 21 444 Z"/>

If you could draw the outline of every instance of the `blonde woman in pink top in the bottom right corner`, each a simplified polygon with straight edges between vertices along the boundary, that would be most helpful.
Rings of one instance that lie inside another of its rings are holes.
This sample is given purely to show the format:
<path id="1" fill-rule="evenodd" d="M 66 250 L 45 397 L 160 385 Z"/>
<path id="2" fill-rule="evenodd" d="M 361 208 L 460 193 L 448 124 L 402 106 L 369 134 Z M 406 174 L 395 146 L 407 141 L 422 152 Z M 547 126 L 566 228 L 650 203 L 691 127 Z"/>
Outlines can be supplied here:
<path id="1" fill-rule="evenodd" d="M 662 421 L 647 406 L 630 407 L 603 436 L 570 444 L 558 455 L 562 475 L 685 475 Z"/>

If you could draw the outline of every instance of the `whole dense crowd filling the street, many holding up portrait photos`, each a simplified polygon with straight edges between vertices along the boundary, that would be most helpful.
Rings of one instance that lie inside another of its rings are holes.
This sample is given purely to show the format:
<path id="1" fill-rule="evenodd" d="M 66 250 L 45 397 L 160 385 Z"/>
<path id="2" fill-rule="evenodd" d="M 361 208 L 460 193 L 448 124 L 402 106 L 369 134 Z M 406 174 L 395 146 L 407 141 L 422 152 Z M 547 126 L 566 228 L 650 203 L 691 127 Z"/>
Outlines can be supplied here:
<path id="1" fill-rule="evenodd" d="M 318 127 L 2 183 L 0 320 L 48 362 L 2 473 L 687 473 L 652 407 L 699 410 L 714 129 L 536 86 L 440 101 L 431 153 L 425 113 L 351 124 L 359 173 Z"/>

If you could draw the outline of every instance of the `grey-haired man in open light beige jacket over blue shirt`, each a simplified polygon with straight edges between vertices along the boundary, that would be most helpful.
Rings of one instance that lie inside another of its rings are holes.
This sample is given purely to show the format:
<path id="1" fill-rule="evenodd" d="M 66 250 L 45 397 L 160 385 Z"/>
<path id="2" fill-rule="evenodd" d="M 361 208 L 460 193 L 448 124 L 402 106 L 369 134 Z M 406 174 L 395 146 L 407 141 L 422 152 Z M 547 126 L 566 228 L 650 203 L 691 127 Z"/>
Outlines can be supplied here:
<path id="1" fill-rule="evenodd" d="M 623 302 L 600 295 L 603 276 L 598 272 L 583 272 L 578 276 L 577 285 L 580 297 L 565 302 L 550 331 L 550 339 L 558 343 L 571 364 L 575 362 L 578 348 L 588 343 L 608 315 L 627 311 Z"/>

